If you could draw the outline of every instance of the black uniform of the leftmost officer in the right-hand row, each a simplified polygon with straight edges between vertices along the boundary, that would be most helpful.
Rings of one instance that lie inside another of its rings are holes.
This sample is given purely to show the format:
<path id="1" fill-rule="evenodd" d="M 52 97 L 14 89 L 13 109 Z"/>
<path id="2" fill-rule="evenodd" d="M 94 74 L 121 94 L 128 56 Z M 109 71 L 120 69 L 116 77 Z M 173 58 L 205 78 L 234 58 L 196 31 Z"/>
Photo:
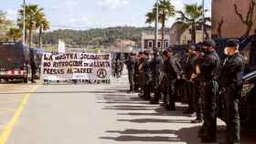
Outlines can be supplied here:
<path id="1" fill-rule="evenodd" d="M 134 91 L 135 59 L 133 57 L 129 57 L 129 59 L 125 61 L 125 65 L 127 66 L 127 69 L 128 69 L 130 92 L 133 92 Z"/>

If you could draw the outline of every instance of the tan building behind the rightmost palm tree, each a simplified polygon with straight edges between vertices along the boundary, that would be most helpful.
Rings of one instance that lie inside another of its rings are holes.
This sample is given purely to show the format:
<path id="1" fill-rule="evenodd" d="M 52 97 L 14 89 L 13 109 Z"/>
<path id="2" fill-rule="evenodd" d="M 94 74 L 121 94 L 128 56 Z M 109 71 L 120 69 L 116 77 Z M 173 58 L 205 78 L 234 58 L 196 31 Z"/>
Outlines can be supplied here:
<path id="1" fill-rule="evenodd" d="M 206 27 L 207 35 L 205 37 L 209 37 L 211 34 L 211 29 L 209 26 Z M 192 36 L 191 36 L 191 26 L 187 27 L 182 22 L 176 22 L 171 27 L 170 30 L 170 43 L 171 45 L 185 45 L 192 44 Z M 196 27 L 196 43 L 203 41 L 203 30 L 202 26 Z"/>

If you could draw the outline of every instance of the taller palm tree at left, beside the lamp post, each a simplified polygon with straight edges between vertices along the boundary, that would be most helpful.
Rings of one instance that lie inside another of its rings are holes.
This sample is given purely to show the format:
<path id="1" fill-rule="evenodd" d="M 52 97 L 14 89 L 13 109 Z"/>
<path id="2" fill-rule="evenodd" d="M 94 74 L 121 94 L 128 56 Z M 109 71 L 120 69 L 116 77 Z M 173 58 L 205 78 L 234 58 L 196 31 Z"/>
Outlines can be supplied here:
<path id="1" fill-rule="evenodd" d="M 19 26 L 23 26 L 23 9 L 19 10 L 20 17 L 18 18 Z M 38 17 L 44 15 L 44 9 L 40 8 L 38 5 L 26 5 L 26 31 L 28 30 L 28 46 L 32 45 L 32 37 L 34 31 L 37 30 Z"/>

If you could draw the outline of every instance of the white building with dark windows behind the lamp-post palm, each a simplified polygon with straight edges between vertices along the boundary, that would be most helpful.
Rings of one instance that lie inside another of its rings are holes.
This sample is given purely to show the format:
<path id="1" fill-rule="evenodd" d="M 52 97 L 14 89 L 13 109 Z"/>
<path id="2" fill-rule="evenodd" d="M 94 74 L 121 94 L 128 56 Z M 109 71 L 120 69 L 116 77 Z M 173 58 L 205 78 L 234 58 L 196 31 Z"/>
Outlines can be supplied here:
<path id="1" fill-rule="evenodd" d="M 170 46 L 170 35 L 169 30 L 165 30 L 165 40 L 164 40 L 164 48 Z M 154 30 L 147 30 L 142 33 L 142 48 L 143 49 L 153 49 L 155 47 L 160 48 L 162 41 L 161 31 L 158 32 L 158 44 L 155 46 L 155 32 Z"/>

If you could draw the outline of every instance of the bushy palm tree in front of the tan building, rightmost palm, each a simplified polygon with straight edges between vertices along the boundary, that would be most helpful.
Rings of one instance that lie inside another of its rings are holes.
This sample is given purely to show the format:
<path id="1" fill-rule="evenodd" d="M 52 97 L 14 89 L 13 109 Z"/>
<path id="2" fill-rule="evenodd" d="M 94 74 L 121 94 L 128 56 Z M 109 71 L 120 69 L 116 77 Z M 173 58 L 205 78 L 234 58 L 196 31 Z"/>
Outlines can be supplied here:
<path id="1" fill-rule="evenodd" d="M 191 39 L 195 44 L 197 26 L 207 26 L 206 23 L 210 21 L 210 17 L 206 17 L 203 22 L 203 7 L 197 4 L 185 5 L 184 12 L 177 11 L 177 14 L 179 14 L 179 17 L 176 18 L 177 21 L 183 22 L 187 27 L 191 26 Z"/>

